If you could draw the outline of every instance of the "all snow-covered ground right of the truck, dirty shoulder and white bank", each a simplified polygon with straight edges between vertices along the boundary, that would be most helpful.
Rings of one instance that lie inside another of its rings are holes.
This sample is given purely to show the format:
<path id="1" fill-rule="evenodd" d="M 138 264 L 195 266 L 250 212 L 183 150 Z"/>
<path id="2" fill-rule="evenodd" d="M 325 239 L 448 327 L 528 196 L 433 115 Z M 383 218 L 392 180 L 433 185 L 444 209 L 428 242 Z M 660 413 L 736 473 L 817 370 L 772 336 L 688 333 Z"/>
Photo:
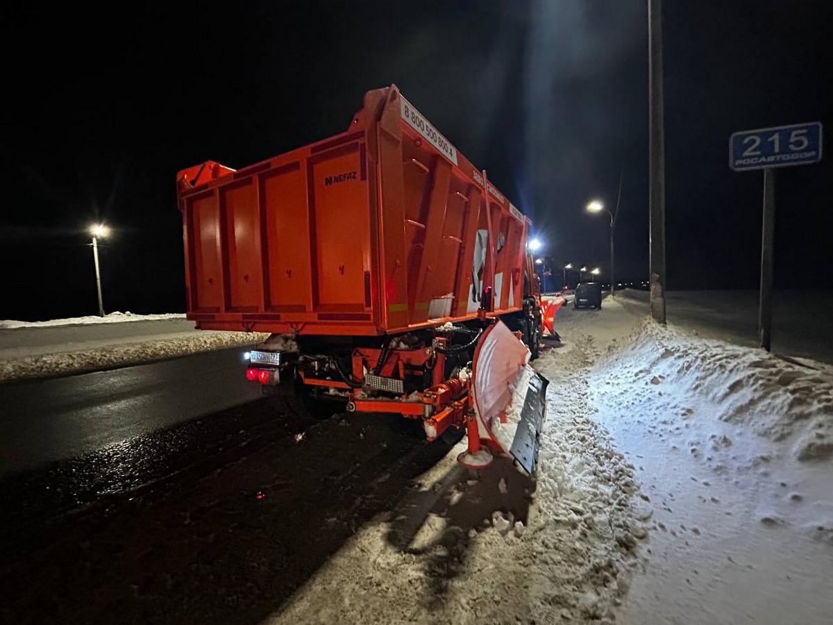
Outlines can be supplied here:
<path id="1" fill-rule="evenodd" d="M 459 443 L 264 622 L 830 622 L 829 369 L 610 299 L 556 322 L 537 478 Z"/>

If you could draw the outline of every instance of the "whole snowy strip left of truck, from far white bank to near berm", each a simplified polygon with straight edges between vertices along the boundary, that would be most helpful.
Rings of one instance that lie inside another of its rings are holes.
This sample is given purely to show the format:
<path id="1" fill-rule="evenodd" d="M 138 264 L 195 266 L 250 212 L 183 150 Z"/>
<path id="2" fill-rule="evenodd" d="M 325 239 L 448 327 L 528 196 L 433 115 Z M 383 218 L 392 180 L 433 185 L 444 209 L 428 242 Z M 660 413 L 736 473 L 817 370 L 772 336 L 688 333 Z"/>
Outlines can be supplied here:
<path id="1" fill-rule="evenodd" d="M 268 337 L 195 330 L 179 314 L 4 321 L 0 328 L 0 382 L 126 367 L 259 343 Z"/>

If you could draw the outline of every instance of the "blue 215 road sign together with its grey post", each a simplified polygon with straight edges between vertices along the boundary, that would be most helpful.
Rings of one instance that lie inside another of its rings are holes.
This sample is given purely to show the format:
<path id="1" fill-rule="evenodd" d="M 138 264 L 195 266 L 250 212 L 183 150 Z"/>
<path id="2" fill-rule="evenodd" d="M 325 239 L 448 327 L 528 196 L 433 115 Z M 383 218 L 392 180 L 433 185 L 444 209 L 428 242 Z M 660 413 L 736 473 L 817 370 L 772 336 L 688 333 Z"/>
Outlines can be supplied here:
<path id="1" fill-rule="evenodd" d="M 732 134 L 729 167 L 736 172 L 764 170 L 764 216 L 761 228 L 761 294 L 758 344 L 767 352 L 772 337 L 772 250 L 775 238 L 775 168 L 821 161 L 821 123 L 759 128 Z"/>

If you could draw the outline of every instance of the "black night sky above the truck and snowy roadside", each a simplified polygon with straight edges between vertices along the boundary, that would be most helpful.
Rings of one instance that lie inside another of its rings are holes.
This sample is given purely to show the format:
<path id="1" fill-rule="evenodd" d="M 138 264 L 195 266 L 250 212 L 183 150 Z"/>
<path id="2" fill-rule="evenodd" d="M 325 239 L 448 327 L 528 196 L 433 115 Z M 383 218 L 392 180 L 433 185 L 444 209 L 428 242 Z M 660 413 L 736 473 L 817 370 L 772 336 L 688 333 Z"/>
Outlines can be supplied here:
<path id="1" fill-rule="evenodd" d="M 762 174 L 737 130 L 833 128 L 829 0 L 666 0 L 669 288 L 756 288 Z M 0 318 L 184 310 L 177 170 L 256 163 L 403 94 L 534 220 L 558 263 L 647 278 L 646 2 L 147 3 L 2 9 Z M 41 5 L 37 5 L 41 6 Z M 827 142 L 826 142 L 827 143 Z M 833 149 L 828 146 L 826 152 Z M 776 173 L 776 288 L 831 288 L 833 161 Z"/>

